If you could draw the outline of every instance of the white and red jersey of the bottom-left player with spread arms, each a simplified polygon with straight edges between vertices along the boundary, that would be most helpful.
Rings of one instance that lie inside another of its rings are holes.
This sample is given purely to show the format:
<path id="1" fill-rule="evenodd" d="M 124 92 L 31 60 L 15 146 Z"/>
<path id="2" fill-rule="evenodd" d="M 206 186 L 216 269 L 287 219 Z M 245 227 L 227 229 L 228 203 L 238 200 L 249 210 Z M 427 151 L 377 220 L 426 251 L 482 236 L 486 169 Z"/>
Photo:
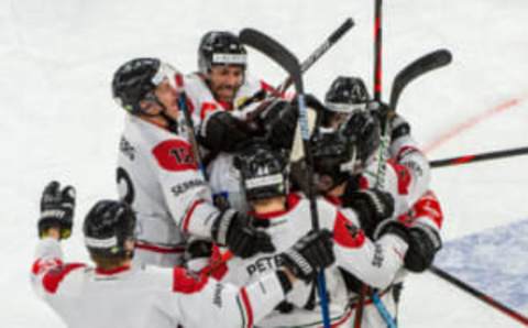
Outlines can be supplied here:
<path id="1" fill-rule="evenodd" d="M 51 238 L 37 244 L 32 284 L 72 328 L 252 327 L 284 299 L 275 273 L 235 287 L 183 267 L 101 271 L 63 263 Z"/>

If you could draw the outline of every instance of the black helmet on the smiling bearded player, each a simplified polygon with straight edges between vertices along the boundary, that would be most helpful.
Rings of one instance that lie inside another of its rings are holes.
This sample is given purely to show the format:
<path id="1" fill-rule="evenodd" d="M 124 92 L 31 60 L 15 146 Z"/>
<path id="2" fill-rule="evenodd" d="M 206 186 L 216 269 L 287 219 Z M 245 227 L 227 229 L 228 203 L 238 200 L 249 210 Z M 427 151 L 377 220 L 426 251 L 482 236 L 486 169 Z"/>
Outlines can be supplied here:
<path id="1" fill-rule="evenodd" d="M 246 67 L 248 52 L 239 37 L 227 31 L 207 32 L 198 47 L 198 69 L 208 75 L 213 65 L 240 65 Z"/>

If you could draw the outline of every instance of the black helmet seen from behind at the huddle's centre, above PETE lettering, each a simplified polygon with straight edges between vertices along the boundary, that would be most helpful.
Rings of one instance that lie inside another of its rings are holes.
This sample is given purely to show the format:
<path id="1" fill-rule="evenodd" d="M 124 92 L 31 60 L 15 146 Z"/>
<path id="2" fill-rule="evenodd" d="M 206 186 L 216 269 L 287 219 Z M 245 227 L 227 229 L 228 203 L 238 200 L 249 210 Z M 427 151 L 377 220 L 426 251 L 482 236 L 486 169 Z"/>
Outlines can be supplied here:
<path id="1" fill-rule="evenodd" d="M 249 201 L 288 194 L 289 170 L 285 152 L 253 142 L 234 157 L 233 164 L 240 171 L 242 189 Z"/>

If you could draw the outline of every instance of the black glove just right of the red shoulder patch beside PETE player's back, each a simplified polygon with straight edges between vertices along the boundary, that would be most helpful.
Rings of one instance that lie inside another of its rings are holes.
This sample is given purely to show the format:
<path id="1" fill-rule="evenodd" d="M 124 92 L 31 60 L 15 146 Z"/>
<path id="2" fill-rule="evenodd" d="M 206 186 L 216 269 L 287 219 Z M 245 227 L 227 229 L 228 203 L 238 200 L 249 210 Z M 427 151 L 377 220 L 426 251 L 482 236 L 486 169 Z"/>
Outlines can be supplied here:
<path id="1" fill-rule="evenodd" d="M 358 214 L 361 228 L 367 237 L 372 237 L 377 225 L 394 214 L 393 196 L 377 188 L 346 192 L 341 199 L 343 207 L 352 208 Z"/>

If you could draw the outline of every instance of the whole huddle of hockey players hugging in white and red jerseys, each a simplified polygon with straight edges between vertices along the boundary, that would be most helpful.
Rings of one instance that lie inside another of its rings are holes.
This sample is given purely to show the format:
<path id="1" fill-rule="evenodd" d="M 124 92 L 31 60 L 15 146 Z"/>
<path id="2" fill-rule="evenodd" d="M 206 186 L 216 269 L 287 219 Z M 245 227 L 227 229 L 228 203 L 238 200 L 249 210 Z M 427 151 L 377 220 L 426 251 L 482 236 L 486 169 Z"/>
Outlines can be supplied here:
<path id="1" fill-rule="evenodd" d="M 52 182 L 41 199 L 32 282 L 68 327 L 320 327 L 320 270 L 332 327 L 387 327 L 380 306 L 397 317 L 398 286 L 432 263 L 443 219 L 409 123 L 392 118 L 383 149 L 386 105 L 337 77 L 323 101 L 307 97 L 308 176 L 293 156 L 297 101 L 246 61 L 237 35 L 212 31 L 197 73 L 158 58 L 118 68 L 120 200 L 85 218 L 95 267 L 63 262 L 74 187 Z"/>

